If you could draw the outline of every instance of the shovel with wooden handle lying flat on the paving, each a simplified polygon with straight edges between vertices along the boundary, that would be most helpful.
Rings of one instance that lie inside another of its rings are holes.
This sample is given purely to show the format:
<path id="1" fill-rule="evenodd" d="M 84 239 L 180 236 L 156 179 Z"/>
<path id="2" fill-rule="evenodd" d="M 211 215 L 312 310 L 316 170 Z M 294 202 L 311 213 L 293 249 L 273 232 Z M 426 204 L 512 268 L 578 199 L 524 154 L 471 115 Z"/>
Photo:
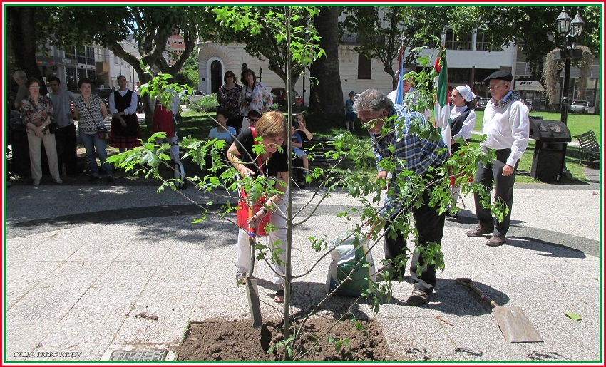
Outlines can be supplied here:
<path id="1" fill-rule="evenodd" d="M 508 343 L 542 343 L 543 338 L 530 322 L 528 316 L 518 306 L 499 306 L 483 291 L 473 284 L 469 278 L 456 278 L 458 284 L 471 289 L 473 293 L 481 297 L 483 301 L 493 308 L 493 315 L 497 321 L 501 333 Z"/>

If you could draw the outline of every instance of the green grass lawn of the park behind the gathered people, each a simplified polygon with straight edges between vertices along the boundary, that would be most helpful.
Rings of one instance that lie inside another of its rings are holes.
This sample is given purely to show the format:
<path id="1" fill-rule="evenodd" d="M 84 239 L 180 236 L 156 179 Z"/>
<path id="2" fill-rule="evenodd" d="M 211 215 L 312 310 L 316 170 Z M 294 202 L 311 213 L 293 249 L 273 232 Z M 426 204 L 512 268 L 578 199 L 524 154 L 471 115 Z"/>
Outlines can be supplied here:
<path id="1" fill-rule="evenodd" d="M 538 112 L 532 113 L 531 115 L 543 116 L 544 120 L 560 120 L 560 113 L 549 113 L 549 112 Z M 215 117 L 215 113 L 210 113 L 210 116 Z M 476 112 L 476 128 L 474 130 L 482 130 L 482 118 L 483 111 Z M 312 115 L 306 114 L 306 123 L 309 131 L 314 135 L 322 137 L 334 137 L 336 135 L 345 133 L 344 116 L 342 115 Z M 358 123 L 359 124 L 359 123 Z M 193 113 L 187 112 L 182 115 L 178 125 L 178 135 L 185 137 L 191 135 L 193 138 L 205 139 L 208 137 L 208 133 L 211 128 L 215 126 L 215 122 L 206 115 L 205 113 Z M 568 115 L 568 127 L 572 135 L 585 133 L 587 130 L 595 131 L 598 140 L 600 140 L 600 116 L 599 115 Z M 369 137 L 366 130 L 360 130 L 360 126 L 357 125 L 355 135 L 361 140 L 367 140 Z M 150 126 L 142 124 L 141 126 L 143 138 L 148 138 L 151 135 Z M 479 143 L 480 135 L 472 135 L 470 143 Z M 573 138 L 574 140 L 574 138 Z M 533 162 L 533 153 L 535 149 L 535 140 L 530 140 L 528 148 L 526 149 L 523 157 L 518 165 L 518 170 L 530 172 L 530 167 Z M 374 160 L 374 157 L 368 153 L 364 155 L 366 160 Z M 579 165 L 579 150 L 576 146 L 568 145 L 566 150 L 566 167 L 572 173 L 572 180 L 563 178 L 563 182 L 574 183 L 574 182 L 586 182 L 587 178 L 583 173 L 583 167 Z M 369 175 L 375 175 L 376 171 L 374 167 L 369 168 Z M 535 182 L 541 183 L 540 181 L 533 180 L 530 176 L 516 177 L 517 182 Z"/>

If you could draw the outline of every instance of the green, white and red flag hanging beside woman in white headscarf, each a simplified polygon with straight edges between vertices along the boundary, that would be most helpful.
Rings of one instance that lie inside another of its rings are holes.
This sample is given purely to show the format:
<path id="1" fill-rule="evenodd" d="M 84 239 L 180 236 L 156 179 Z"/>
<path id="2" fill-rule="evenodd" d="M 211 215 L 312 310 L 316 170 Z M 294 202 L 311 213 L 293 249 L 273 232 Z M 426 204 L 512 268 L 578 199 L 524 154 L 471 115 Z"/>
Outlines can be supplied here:
<path id="1" fill-rule="evenodd" d="M 438 54 L 434 68 L 438 71 L 438 80 L 436 81 L 436 105 L 434 109 L 436 115 L 436 128 L 440 129 L 444 143 L 448 146 L 448 153 L 451 153 L 451 105 L 450 92 L 448 91 L 446 48 L 442 48 Z"/>

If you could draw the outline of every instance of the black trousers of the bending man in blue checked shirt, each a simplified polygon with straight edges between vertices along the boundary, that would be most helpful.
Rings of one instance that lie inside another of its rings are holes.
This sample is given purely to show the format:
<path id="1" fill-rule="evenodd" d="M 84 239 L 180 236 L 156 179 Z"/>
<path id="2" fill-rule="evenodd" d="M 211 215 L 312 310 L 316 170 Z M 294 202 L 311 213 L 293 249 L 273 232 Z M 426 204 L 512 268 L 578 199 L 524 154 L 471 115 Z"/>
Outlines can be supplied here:
<path id="1" fill-rule="evenodd" d="M 429 242 L 437 242 L 438 244 L 442 243 L 442 237 L 444 234 L 444 220 L 446 219 L 446 214 L 438 214 L 436 208 L 433 208 L 429 205 L 431 188 L 427 188 L 423 191 L 423 201 L 420 207 L 414 208 L 413 218 L 414 225 L 418 234 L 418 244 L 426 245 Z M 401 209 L 399 213 L 396 215 L 404 215 L 408 216 L 408 212 L 406 209 Z M 392 217 L 392 219 L 394 218 Z M 391 224 L 392 220 L 390 219 L 386 226 Z M 406 254 L 406 237 L 401 232 L 396 232 L 396 237 L 391 238 L 388 235 L 389 228 L 385 229 L 385 258 L 393 260 L 396 256 L 400 254 Z M 433 265 L 426 265 L 421 257 L 420 252 L 414 252 L 411 260 L 411 279 L 414 283 L 414 287 L 416 289 L 421 289 L 428 294 L 433 292 L 433 288 L 436 286 L 436 267 Z M 417 275 L 417 270 L 421 268 L 421 275 Z M 402 271 L 401 273 L 404 273 Z M 397 276 L 398 274 L 396 274 Z M 404 276 L 404 274 L 400 274 Z"/>

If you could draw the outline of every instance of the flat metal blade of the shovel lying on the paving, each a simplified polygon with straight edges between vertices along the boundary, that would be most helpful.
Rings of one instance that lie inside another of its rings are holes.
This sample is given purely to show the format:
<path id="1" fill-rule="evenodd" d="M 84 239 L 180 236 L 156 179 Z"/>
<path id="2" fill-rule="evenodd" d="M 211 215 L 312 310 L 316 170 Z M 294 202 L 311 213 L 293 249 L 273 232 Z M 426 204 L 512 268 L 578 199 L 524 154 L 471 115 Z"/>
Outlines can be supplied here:
<path id="1" fill-rule="evenodd" d="M 493 315 L 508 343 L 542 343 L 543 338 L 518 306 L 496 306 Z"/>

